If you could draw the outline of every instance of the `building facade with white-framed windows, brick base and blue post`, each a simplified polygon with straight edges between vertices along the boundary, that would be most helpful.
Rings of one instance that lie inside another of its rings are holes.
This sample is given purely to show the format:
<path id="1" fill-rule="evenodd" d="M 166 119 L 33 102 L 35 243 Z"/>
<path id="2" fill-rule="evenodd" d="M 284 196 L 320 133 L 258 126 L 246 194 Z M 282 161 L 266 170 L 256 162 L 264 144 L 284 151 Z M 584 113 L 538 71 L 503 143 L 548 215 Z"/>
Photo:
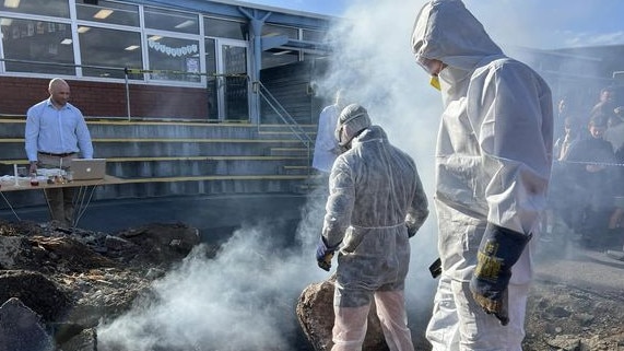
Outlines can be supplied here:
<path id="1" fill-rule="evenodd" d="M 24 115 L 61 77 L 85 116 L 257 122 L 271 72 L 315 69 L 337 19 L 240 3 L 5 0 L 0 114 Z M 282 87 L 311 101 L 303 85 Z"/>

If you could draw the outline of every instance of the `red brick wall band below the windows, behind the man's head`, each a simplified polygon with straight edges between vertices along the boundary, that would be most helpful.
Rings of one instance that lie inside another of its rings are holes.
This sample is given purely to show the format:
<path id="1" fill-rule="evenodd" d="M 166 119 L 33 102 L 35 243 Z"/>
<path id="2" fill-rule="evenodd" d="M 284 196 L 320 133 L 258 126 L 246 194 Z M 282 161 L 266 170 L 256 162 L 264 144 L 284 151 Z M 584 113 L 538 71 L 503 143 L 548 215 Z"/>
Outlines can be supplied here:
<path id="1" fill-rule="evenodd" d="M 49 79 L 0 77 L 0 114 L 25 115 L 28 107 L 47 98 Z M 127 117 L 126 85 L 72 81 L 71 103 L 84 116 Z M 207 119 L 204 89 L 130 84 L 132 117 Z"/>

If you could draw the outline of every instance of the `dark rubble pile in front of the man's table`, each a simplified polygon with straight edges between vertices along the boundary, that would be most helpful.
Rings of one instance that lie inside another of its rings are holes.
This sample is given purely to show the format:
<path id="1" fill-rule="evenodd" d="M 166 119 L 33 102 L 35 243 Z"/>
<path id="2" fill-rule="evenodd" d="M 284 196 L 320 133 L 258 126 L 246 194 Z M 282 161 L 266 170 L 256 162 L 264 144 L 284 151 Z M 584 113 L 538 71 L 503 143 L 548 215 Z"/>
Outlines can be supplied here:
<path id="1" fill-rule="evenodd" d="M 28 330 L 20 330 L 12 323 L 0 328 L 0 351 L 95 350 L 99 320 L 128 311 L 199 242 L 198 230 L 184 224 L 107 234 L 0 221 L 0 323 L 37 320 L 54 339 L 48 346 L 39 334 L 37 348 L 25 346 L 19 336 L 37 328 L 22 324 Z"/>

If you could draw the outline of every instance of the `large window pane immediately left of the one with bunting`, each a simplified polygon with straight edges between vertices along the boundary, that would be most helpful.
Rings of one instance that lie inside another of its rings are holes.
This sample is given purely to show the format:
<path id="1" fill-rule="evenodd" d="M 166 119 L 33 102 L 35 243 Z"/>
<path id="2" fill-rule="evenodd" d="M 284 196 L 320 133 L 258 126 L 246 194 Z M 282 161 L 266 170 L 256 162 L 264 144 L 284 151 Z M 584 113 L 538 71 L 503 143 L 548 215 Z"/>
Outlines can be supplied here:
<path id="1" fill-rule="evenodd" d="M 86 31 L 80 33 L 82 65 L 97 68 L 84 68 L 83 75 L 125 78 L 123 68 L 143 67 L 138 32 L 84 28 Z"/>

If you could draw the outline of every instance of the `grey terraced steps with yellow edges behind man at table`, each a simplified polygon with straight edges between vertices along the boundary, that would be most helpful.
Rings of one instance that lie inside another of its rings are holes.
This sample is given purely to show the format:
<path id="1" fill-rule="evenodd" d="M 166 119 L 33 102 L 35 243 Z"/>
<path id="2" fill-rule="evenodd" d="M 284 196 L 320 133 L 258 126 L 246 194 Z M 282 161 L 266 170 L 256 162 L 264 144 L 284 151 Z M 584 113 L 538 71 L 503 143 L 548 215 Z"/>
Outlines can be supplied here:
<path id="1" fill-rule="evenodd" d="M 95 157 L 123 184 L 101 186 L 93 201 L 173 196 L 301 194 L 309 189 L 316 126 L 87 118 Z M 24 116 L 0 116 L 0 174 L 27 164 Z M 13 207 L 44 204 L 40 191 L 3 194 Z M 8 203 L 2 201 L 0 209 Z"/>

